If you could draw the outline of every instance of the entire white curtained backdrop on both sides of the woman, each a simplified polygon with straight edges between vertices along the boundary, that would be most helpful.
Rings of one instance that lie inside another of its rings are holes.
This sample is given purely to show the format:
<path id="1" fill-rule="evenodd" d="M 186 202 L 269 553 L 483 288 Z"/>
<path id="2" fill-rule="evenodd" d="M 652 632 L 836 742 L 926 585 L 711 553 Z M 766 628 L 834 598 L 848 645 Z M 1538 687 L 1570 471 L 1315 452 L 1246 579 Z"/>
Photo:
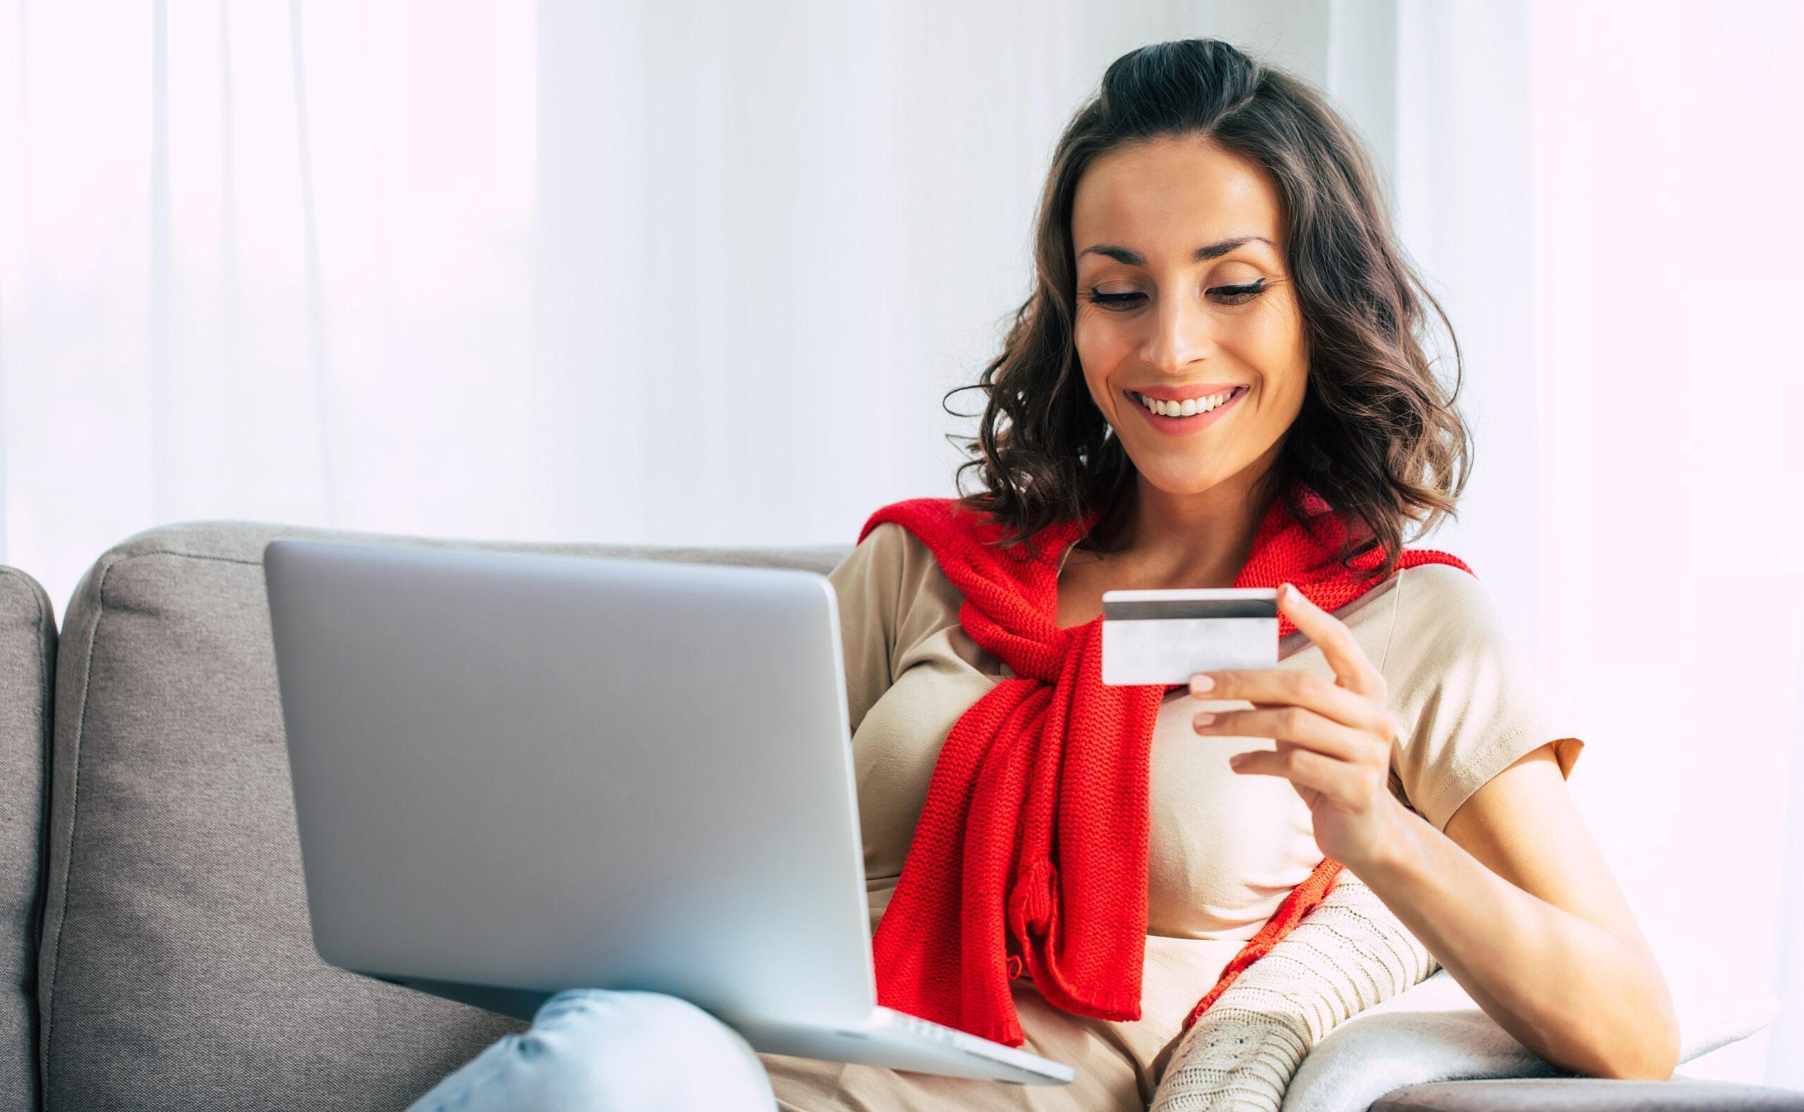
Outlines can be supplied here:
<path id="1" fill-rule="evenodd" d="M 1465 351 L 1450 548 L 1589 741 L 1674 979 L 1804 1087 L 1804 7 L 0 7 L 0 561 L 168 521 L 851 542 L 951 494 L 1052 142 L 1118 54 L 1328 88 Z M 960 413 L 976 391 L 949 398 Z"/>

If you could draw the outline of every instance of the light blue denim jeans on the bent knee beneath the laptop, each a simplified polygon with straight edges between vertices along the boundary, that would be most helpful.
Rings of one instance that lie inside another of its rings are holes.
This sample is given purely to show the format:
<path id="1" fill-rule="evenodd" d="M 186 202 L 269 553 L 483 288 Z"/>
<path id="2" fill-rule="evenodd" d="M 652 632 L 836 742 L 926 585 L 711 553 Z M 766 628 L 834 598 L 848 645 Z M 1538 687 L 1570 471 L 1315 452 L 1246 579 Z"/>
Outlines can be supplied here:
<path id="1" fill-rule="evenodd" d="M 662 993 L 568 989 L 408 1112 L 774 1112 L 763 1062 L 732 1027 Z"/>

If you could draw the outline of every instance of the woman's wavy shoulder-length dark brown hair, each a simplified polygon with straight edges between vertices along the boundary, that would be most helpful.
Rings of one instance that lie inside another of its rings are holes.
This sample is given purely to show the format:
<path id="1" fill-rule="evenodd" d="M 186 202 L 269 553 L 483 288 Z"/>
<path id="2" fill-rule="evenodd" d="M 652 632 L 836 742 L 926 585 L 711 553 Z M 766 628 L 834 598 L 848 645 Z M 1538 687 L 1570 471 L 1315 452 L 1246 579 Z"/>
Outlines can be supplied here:
<path id="1" fill-rule="evenodd" d="M 1454 501 L 1472 456 L 1454 409 L 1459 342 L 1404 260 L 1351 126 L 1304 81 L 1207 38 L 1117 58 L 1059 137 L 1035 216 L 1034 290 L 978 382 L 945 395 L 981 389 L 987 396 L 978 438 L 962 443 L 971 460 L 958 467 L 960 505 L 1001 524 L 998 544 L 1007 550 L 1048 524 L 1104 508 L 1081 544 L 1108 551 L 1117 510 L 1129 503 L 1118 496 L 1131 488 L 1135 467 L 1077 362 L 1072 198 L 1097 157 L 1164 137 L 1207 139 L 1252 160 L 1275 180 L 1283 205 L 1310 368 L 1302 409 L 1257 485 L 1259 505 L 1283 497 L 1308 521 L 1301 481 L 1348 526 L 1340 562 L 1351 568 L 1380 548 L 1384 559 L 1367 573 L 1389 575 L 1409 523 L 1420 521 L 1422 535 L 1443 515 L 1458 517 Z M 1418 335 L 1423 303 L 1452 342 L 1452 391 L 1434 377 Z M 983 483 L 974 494 L 963 494 L 969 469 Z"/>

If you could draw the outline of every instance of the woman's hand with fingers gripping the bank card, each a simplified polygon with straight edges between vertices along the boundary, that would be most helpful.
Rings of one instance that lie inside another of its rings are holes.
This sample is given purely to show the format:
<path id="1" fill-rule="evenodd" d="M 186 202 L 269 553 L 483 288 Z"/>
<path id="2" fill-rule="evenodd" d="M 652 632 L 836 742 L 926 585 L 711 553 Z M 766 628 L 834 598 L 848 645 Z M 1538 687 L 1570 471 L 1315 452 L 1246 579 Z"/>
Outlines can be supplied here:
<path id="1" fill-rule="evenodd" d="M 1236 771 L 1284 777 L 1315 820 L 1322 854 L 1358 872 L 1398 834 L 1404 804 L 1391 795 L 1391 744 L 1398 723 L 1385 708 L 1384 676 L 1339 618 L 1284 584 L 1277 606 L 1328 658 L 1335 681 L 1301 669 L 1223 669 L 1191 678 L 1196 699 L 1245 699 L 1252 710 L 1192 719 L 1198 734 L 1272 737 L 1275 750 L 1230 759 Z M 1212 678 L 1214 685 L 1205 687 Z"/>

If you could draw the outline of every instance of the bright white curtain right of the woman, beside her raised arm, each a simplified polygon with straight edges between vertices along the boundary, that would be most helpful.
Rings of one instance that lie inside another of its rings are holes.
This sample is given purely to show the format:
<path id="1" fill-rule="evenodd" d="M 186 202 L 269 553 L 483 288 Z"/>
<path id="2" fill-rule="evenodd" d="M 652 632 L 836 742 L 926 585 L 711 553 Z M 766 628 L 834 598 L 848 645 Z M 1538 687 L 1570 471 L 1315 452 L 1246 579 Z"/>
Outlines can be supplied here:
<path id="1" fill-rule="evenodd" d="M 1781 997 L 1690 1076 L 1804 1089 L 1804 7 L 1404 4 L 1404 236 L 1472 341 L 1450 530 L 1582 728 L 1674 989 Z"/>

